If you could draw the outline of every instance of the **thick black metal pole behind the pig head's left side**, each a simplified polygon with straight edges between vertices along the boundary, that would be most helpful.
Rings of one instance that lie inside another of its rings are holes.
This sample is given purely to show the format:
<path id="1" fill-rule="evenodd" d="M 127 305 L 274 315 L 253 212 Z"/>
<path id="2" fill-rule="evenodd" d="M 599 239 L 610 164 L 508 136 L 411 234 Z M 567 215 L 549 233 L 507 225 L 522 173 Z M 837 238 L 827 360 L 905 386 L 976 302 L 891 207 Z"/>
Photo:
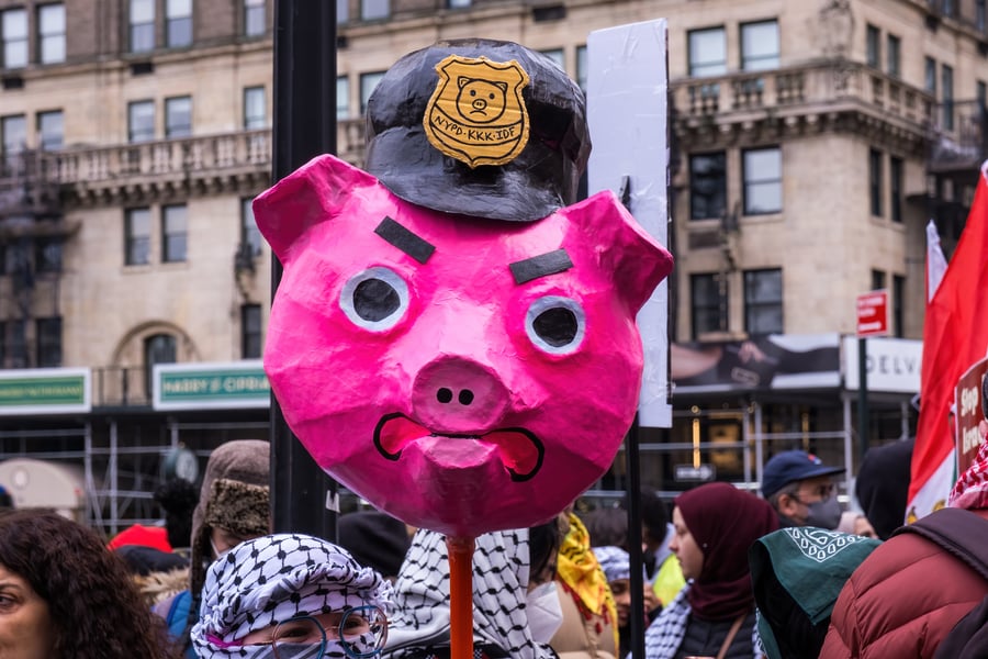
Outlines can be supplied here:
<path id="1" fill-rule="evenodd" d="M 272 177 L 281 180 L 321 154 L 336 153 L 336 3 L 274 2 L 274 125 Z M 281 282 L 271 257 L 271 297 Z M 285 424 L 271 396 L 271 514 L 276 532 L 336 540 L 327 502 L 337 484 L 315 463 Z"/>

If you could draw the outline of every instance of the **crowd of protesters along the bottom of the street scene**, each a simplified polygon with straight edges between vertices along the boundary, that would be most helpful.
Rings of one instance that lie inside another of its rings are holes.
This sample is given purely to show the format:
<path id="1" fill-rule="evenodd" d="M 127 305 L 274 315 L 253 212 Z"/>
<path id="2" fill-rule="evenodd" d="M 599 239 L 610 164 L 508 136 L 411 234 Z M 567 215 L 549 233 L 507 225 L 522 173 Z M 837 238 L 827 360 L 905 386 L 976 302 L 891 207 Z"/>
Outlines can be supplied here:
<path id="1" fill-rule="evenodd" d="M 135 526 L 108 543 L 54 512 L 0 511 L 0 656 L 449 658 L 446 538 L 374 511 L 341 516 L 339 545 L 271 534 L 268 465 L 267 443 L 229 442 L 198 495 L 165 488 L 162 505 L 184 502 L 179 536 Z M 952 552 L 924 524 L 896 530 L 905 496 L 883 490 L 902 483 L 880 470 L 858 482 L 855 520 L 874 527 L 839 529 L 842 471 L 788 450 L 761 496 L 715 482 L 666 507 L 645 490 L 638 566 L 622 507 L 480 536 L 473 657 L 631 657 L 633 571 L 644 659 L 988 656 L 988 567 L 963 538 Z M 988 537 L 988 444 L 925 520 Z"/>

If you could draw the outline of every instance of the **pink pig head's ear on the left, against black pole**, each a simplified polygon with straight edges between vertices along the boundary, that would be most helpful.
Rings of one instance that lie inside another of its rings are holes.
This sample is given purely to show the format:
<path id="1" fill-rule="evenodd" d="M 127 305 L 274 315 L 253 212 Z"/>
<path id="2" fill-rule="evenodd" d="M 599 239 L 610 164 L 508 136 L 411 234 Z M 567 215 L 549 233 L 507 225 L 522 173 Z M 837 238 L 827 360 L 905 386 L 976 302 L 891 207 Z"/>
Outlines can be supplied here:
<path id="1" fill-rule="evenodd" d="M 366 171 L 334 156 L 317 156 L 261 192 L 254 200 L 254 219 L 284 263 L 299 236 L 339 215 L 355 190 L 374 185 L 377 179 Z"/>

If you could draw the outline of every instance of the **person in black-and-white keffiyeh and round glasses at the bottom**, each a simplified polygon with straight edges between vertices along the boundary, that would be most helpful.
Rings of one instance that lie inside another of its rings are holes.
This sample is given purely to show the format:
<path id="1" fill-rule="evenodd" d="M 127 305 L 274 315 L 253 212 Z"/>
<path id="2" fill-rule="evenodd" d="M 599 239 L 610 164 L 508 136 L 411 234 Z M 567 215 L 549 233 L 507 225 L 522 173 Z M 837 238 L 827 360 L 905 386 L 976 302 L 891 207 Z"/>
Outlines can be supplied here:
<path id="1" fill-rule="evenodd" d="M 200 659 L 370 659 L 388 638 L 391 596 L 343 547 L 266 535 L 210 566 L 192 644 Z"/>

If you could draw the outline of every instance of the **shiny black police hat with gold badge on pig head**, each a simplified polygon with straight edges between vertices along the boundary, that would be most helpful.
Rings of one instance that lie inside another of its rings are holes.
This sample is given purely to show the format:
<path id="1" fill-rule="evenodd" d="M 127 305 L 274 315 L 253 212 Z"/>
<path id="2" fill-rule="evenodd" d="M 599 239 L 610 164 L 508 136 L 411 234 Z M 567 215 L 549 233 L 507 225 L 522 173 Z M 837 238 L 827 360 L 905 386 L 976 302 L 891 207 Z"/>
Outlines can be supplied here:
<path id="1" fill-rule="evenodd" d="M 490 40 L 402 57 L 368 101 L 367 139 L 367 171 L 397 197 L 516 222 L 575 202 L 591 150 L 580 87 L 541 53 Z"/>

